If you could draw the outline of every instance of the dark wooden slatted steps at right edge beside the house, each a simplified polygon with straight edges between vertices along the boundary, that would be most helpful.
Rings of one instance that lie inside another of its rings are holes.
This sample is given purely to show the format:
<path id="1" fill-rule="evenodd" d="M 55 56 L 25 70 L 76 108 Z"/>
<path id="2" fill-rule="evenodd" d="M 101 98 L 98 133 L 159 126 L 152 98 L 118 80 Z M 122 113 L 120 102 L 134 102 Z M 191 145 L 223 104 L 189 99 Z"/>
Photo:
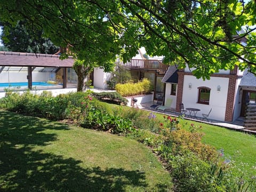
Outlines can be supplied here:
<path id="1" fill-rule="evenodd" d="M 248 103 L 245 112 L 244 126 L 247 130 L 256 130 L 256 105 Z"/>

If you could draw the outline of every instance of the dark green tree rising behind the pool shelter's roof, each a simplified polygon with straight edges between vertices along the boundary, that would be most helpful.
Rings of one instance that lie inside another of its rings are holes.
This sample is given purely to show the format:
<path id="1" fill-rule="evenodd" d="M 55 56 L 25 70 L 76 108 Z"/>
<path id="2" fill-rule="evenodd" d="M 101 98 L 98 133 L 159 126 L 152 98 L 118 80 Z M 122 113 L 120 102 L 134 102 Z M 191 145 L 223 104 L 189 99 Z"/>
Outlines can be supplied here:
<path id="1" fill-rule="evenodd" d="M 0 37 L 4 46 L 15 52 L 34 52 L 54 54 L 59 51 L 49 38 L 43 37 L 43 30 L 35 30 L 26 27 L 25 21 L 18 21 L 15 26 L 10 23 L 0 23 L 3 31 Z"/>

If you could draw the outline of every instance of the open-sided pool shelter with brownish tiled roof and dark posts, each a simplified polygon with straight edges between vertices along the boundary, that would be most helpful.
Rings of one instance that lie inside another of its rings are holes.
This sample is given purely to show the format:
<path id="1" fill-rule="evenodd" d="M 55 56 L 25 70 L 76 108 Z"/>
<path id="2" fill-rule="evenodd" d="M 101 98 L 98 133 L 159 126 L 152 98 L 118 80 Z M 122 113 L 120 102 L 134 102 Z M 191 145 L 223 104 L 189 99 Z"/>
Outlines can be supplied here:
<path id="1" fill-rule="evenodd" d="M 59 55 L 0 51 L 0 83 L 53 81 L 67 87 L 68 71 L 74 60 L 60 60 Z M 74 83 L 74 81 L 73 81 Z"/>

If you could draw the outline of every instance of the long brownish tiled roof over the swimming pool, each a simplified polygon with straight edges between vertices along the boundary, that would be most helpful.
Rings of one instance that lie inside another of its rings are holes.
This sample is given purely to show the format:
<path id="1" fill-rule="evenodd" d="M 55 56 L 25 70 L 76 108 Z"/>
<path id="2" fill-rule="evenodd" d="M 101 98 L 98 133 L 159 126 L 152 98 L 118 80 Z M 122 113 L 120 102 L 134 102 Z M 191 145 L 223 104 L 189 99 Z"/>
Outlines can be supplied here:
<path id="1" fill-rule="evenodd" d="M 72 57 L 60 60 L 60 55 L 0 51 L 0 66 L 72 67 Z"/>

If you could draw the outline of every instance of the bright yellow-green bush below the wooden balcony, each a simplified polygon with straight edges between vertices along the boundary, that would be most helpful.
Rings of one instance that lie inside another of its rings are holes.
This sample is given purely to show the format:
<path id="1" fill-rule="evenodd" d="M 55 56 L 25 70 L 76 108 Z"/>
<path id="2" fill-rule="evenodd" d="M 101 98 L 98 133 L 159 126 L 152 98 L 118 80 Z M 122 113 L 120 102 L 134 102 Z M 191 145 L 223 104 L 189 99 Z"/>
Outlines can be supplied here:
<path id="1" fill-rule="evenodd" d="M 152 91 L 152 84 L 147 78 L 144 78 L 141 82 L 138 83 L 118 83 L 116 84 L 115 89 L 123 97 L 126 97 L 130 95 L 149 93 L 150 91 Z"/>

